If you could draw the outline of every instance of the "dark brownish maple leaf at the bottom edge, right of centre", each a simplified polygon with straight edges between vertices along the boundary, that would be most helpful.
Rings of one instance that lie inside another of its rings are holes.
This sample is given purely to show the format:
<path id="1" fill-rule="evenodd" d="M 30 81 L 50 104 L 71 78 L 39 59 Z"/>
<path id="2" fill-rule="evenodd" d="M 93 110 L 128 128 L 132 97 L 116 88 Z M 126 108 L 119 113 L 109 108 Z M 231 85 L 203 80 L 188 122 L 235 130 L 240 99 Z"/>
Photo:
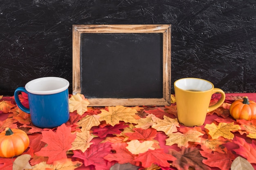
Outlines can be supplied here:
<path id="1" fill-rule="evenodd" d="M 202 163 L 204 158 L 198 148 L 185 148 L 182 146 L 181 151 L 169 149 L 169 153 L 177 158 L 173 161 L 172 166 L 178 170 L 187 170 L 192 167 L 196 170 L 211 170 L 209 166 Z"/>

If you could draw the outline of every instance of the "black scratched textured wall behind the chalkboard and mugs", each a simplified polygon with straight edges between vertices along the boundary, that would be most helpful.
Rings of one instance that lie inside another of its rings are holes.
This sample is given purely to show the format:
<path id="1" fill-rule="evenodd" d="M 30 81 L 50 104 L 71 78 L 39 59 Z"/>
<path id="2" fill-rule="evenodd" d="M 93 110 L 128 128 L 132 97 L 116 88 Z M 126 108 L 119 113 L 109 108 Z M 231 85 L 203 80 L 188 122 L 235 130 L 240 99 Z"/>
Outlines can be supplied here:
<path id="1" fill-rule="evenodd" d="M 0 0 L 0 95 L 38 77 L 72 83 L 72 24 L 172 24 L 172 86 L 256 91 L 256 0 Z"/>

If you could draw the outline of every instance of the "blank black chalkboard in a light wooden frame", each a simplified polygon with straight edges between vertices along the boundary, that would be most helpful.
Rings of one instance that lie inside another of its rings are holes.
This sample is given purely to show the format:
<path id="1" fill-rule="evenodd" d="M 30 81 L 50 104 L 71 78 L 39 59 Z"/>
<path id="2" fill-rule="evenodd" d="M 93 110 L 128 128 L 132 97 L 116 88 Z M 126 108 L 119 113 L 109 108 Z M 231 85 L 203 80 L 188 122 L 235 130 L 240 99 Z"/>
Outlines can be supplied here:
<path id="1" fill-rule="evenodd" d="M 73 94 L 89 106 L 171 103 L 171 25 L 73 25 Z"/>

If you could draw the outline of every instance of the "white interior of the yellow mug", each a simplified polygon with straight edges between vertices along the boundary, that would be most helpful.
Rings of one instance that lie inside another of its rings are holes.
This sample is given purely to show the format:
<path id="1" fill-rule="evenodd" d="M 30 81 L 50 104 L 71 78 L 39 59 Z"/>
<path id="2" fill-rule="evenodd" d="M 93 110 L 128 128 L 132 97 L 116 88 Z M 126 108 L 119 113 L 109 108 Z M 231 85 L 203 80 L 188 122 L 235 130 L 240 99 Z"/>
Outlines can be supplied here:
<path id="1" fill-rule="evenodd" d="M 175 86 L 186 91 L 208 91 L 213 88 L 213 84 L 204 79 L 183 78 L 175 82 Z"/>

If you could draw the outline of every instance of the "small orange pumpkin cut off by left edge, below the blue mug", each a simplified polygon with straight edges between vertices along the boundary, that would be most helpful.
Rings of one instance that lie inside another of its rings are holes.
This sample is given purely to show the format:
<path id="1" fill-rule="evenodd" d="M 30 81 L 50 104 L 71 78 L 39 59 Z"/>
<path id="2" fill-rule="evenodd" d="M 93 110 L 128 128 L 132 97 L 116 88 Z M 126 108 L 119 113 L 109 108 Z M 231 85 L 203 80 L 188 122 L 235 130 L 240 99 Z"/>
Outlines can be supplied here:
<path id="1" fill-rule="evenodd" d="M 22 154 L 29 146 L 29 137 L 20 129 L 5 128 L 0 133 L 0 157 L 11 158 Z"/>

